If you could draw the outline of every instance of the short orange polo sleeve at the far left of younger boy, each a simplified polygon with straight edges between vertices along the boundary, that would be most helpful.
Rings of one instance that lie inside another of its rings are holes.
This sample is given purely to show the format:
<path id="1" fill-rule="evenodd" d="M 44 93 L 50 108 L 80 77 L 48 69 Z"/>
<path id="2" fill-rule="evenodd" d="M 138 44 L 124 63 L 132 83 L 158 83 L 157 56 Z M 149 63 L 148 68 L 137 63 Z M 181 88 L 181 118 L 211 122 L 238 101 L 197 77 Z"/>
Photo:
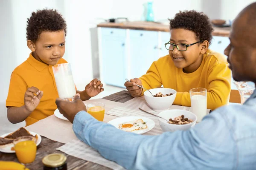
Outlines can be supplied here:
<path id="1" fill-rule="evenodd" d="M 12 72 L 9 92 L 6 99 L 6 107 L 15 106 L 20 107 L 24 105 L 24 95 L 28 86 L 24 79 L 20 77 L 15 71 Z"/>

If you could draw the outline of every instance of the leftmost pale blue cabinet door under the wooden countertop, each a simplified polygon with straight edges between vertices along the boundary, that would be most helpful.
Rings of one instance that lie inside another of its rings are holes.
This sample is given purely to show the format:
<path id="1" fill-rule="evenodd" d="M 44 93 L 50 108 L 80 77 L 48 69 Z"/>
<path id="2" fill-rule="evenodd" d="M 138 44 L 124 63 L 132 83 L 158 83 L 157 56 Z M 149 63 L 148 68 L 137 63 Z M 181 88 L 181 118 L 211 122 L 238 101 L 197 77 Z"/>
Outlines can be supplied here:
<path id="1" fill-rule="evenodd" d="M 126 76 L 125 29 L 102 29 L 102 74 L 108 85 L 124 87 Z"/>

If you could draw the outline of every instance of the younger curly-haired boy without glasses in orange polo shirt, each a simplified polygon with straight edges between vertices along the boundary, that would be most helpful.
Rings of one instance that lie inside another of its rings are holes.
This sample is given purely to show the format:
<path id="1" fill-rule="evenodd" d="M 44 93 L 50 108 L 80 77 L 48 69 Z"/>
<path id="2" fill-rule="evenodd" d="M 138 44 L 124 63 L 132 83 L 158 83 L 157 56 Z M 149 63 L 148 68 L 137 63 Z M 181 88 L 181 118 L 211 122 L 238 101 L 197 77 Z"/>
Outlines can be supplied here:
<path id="1" fill-rule="evenodd" d="M 26 121 L 31 125 L 54 113 L 58 91 L 52 65 L 66 63 L 67 24 L 56 10 L 43 9 L 32 12 L 27 20 L 27 46 L 32 51 L 29 58 L 12 72 L 6 99 L 10 122 Z M 96 96 L 104 89 L 101 81 L 93 79 L 84 91 L 76 91 L 82 100 Z"/>

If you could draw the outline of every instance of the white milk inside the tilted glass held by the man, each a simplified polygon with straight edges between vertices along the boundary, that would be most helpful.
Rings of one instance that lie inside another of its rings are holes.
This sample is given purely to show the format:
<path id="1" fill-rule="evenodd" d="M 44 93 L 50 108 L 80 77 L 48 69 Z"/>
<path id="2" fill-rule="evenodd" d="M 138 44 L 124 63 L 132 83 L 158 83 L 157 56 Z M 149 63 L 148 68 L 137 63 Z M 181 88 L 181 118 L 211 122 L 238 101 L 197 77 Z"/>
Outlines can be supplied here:
<path id="1" fill-rule="evenodd" d="M 72 74 L 54 74 L 58 95 L 60 99 L 73 99 L 76 94 L 75 83 Z"/>

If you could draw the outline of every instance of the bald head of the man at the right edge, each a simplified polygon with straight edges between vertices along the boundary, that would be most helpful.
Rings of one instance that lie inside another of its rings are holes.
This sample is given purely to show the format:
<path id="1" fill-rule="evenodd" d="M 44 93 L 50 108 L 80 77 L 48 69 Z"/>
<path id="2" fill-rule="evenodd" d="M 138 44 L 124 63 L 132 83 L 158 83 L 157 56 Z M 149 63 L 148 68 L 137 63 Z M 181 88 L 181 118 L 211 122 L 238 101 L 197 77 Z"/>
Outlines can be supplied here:
<path id="1" fill-rule="evenodd" d="M 256 83 L 256 3 L 244 8 L 230 32 L 230 45 L 224 51 L 236 81 Z"/>

